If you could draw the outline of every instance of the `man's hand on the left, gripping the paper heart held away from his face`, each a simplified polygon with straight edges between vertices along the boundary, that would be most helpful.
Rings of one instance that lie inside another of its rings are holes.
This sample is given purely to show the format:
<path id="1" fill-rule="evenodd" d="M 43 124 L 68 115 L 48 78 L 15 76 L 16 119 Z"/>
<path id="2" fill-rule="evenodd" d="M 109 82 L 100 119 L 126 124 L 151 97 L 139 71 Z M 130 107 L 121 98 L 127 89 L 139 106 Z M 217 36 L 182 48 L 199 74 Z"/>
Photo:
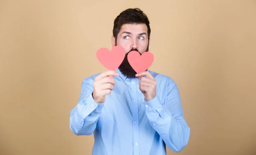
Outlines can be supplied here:
<path id="1" fill-rule="evenodd" d="M 93 84 L 93 99 L 97 103 L 103 103 L 105 96 L 114 89 L 115 80 L 113 76 L 119 76 L 116 71 L 107 70 L 96 76 Z"/>

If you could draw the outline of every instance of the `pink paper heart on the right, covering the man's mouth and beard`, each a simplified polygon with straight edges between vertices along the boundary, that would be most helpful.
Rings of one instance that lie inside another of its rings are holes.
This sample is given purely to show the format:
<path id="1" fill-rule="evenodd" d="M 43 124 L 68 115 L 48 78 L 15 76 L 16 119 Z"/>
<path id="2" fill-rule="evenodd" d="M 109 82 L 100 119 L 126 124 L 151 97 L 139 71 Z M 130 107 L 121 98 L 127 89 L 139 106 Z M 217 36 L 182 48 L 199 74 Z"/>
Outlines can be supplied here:
<path id="1" fill-rule="evenodd" d="M 154 56 L 150 52 L 144 52 L 140 55 L 137 51 L 131 51 L 127 56 L 128 62 L 136 73 L 147 70 L 153 63 Z"/>

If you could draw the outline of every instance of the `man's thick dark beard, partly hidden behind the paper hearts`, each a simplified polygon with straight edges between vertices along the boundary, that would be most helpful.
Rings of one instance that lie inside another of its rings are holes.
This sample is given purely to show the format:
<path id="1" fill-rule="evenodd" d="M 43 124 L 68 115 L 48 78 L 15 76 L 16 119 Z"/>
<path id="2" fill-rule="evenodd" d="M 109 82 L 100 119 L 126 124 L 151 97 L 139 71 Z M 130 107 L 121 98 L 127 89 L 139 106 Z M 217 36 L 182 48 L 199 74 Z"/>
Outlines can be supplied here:
<path id="1" fill-rule="evenodd" d="M 137 49 L 131 49 L 131 51 L 137 51 L 139 52 Z M 135 75 L 137 74 L 136 71 L 131 67 L 130 63 L 128 62 L 127 56 L 128 54 L 131 52 L 129 51 L 127 54 L 125 54 L 125 59 L 123 60 L 123 62 L 121 63 L 121 65 L 119 66 L 119 70 L 120 72 L 126 76 L 127 78 L 137 78 Z M 146 50 L 146 52 L 148 51 L 148 48 Z M 140 52 L 139 52 L 140 53 Z M 141 55 L 141 54 L 140 54 Z"/>

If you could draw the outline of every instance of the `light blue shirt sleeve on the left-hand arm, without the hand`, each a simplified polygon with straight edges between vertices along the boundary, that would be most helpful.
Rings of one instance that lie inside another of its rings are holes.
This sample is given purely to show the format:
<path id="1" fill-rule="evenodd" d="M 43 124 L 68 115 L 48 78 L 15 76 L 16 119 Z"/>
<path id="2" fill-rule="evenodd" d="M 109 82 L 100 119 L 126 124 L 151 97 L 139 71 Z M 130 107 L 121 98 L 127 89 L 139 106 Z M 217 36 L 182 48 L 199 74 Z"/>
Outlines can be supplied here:
<path id="1" fill-rule="evenodd" d="M 76 135 L 92 135 L 104 103 L 94 101 L 93 79 L 84 79 L 81 84 L 79 102 L 70 111 L 70 130 Z"/>

